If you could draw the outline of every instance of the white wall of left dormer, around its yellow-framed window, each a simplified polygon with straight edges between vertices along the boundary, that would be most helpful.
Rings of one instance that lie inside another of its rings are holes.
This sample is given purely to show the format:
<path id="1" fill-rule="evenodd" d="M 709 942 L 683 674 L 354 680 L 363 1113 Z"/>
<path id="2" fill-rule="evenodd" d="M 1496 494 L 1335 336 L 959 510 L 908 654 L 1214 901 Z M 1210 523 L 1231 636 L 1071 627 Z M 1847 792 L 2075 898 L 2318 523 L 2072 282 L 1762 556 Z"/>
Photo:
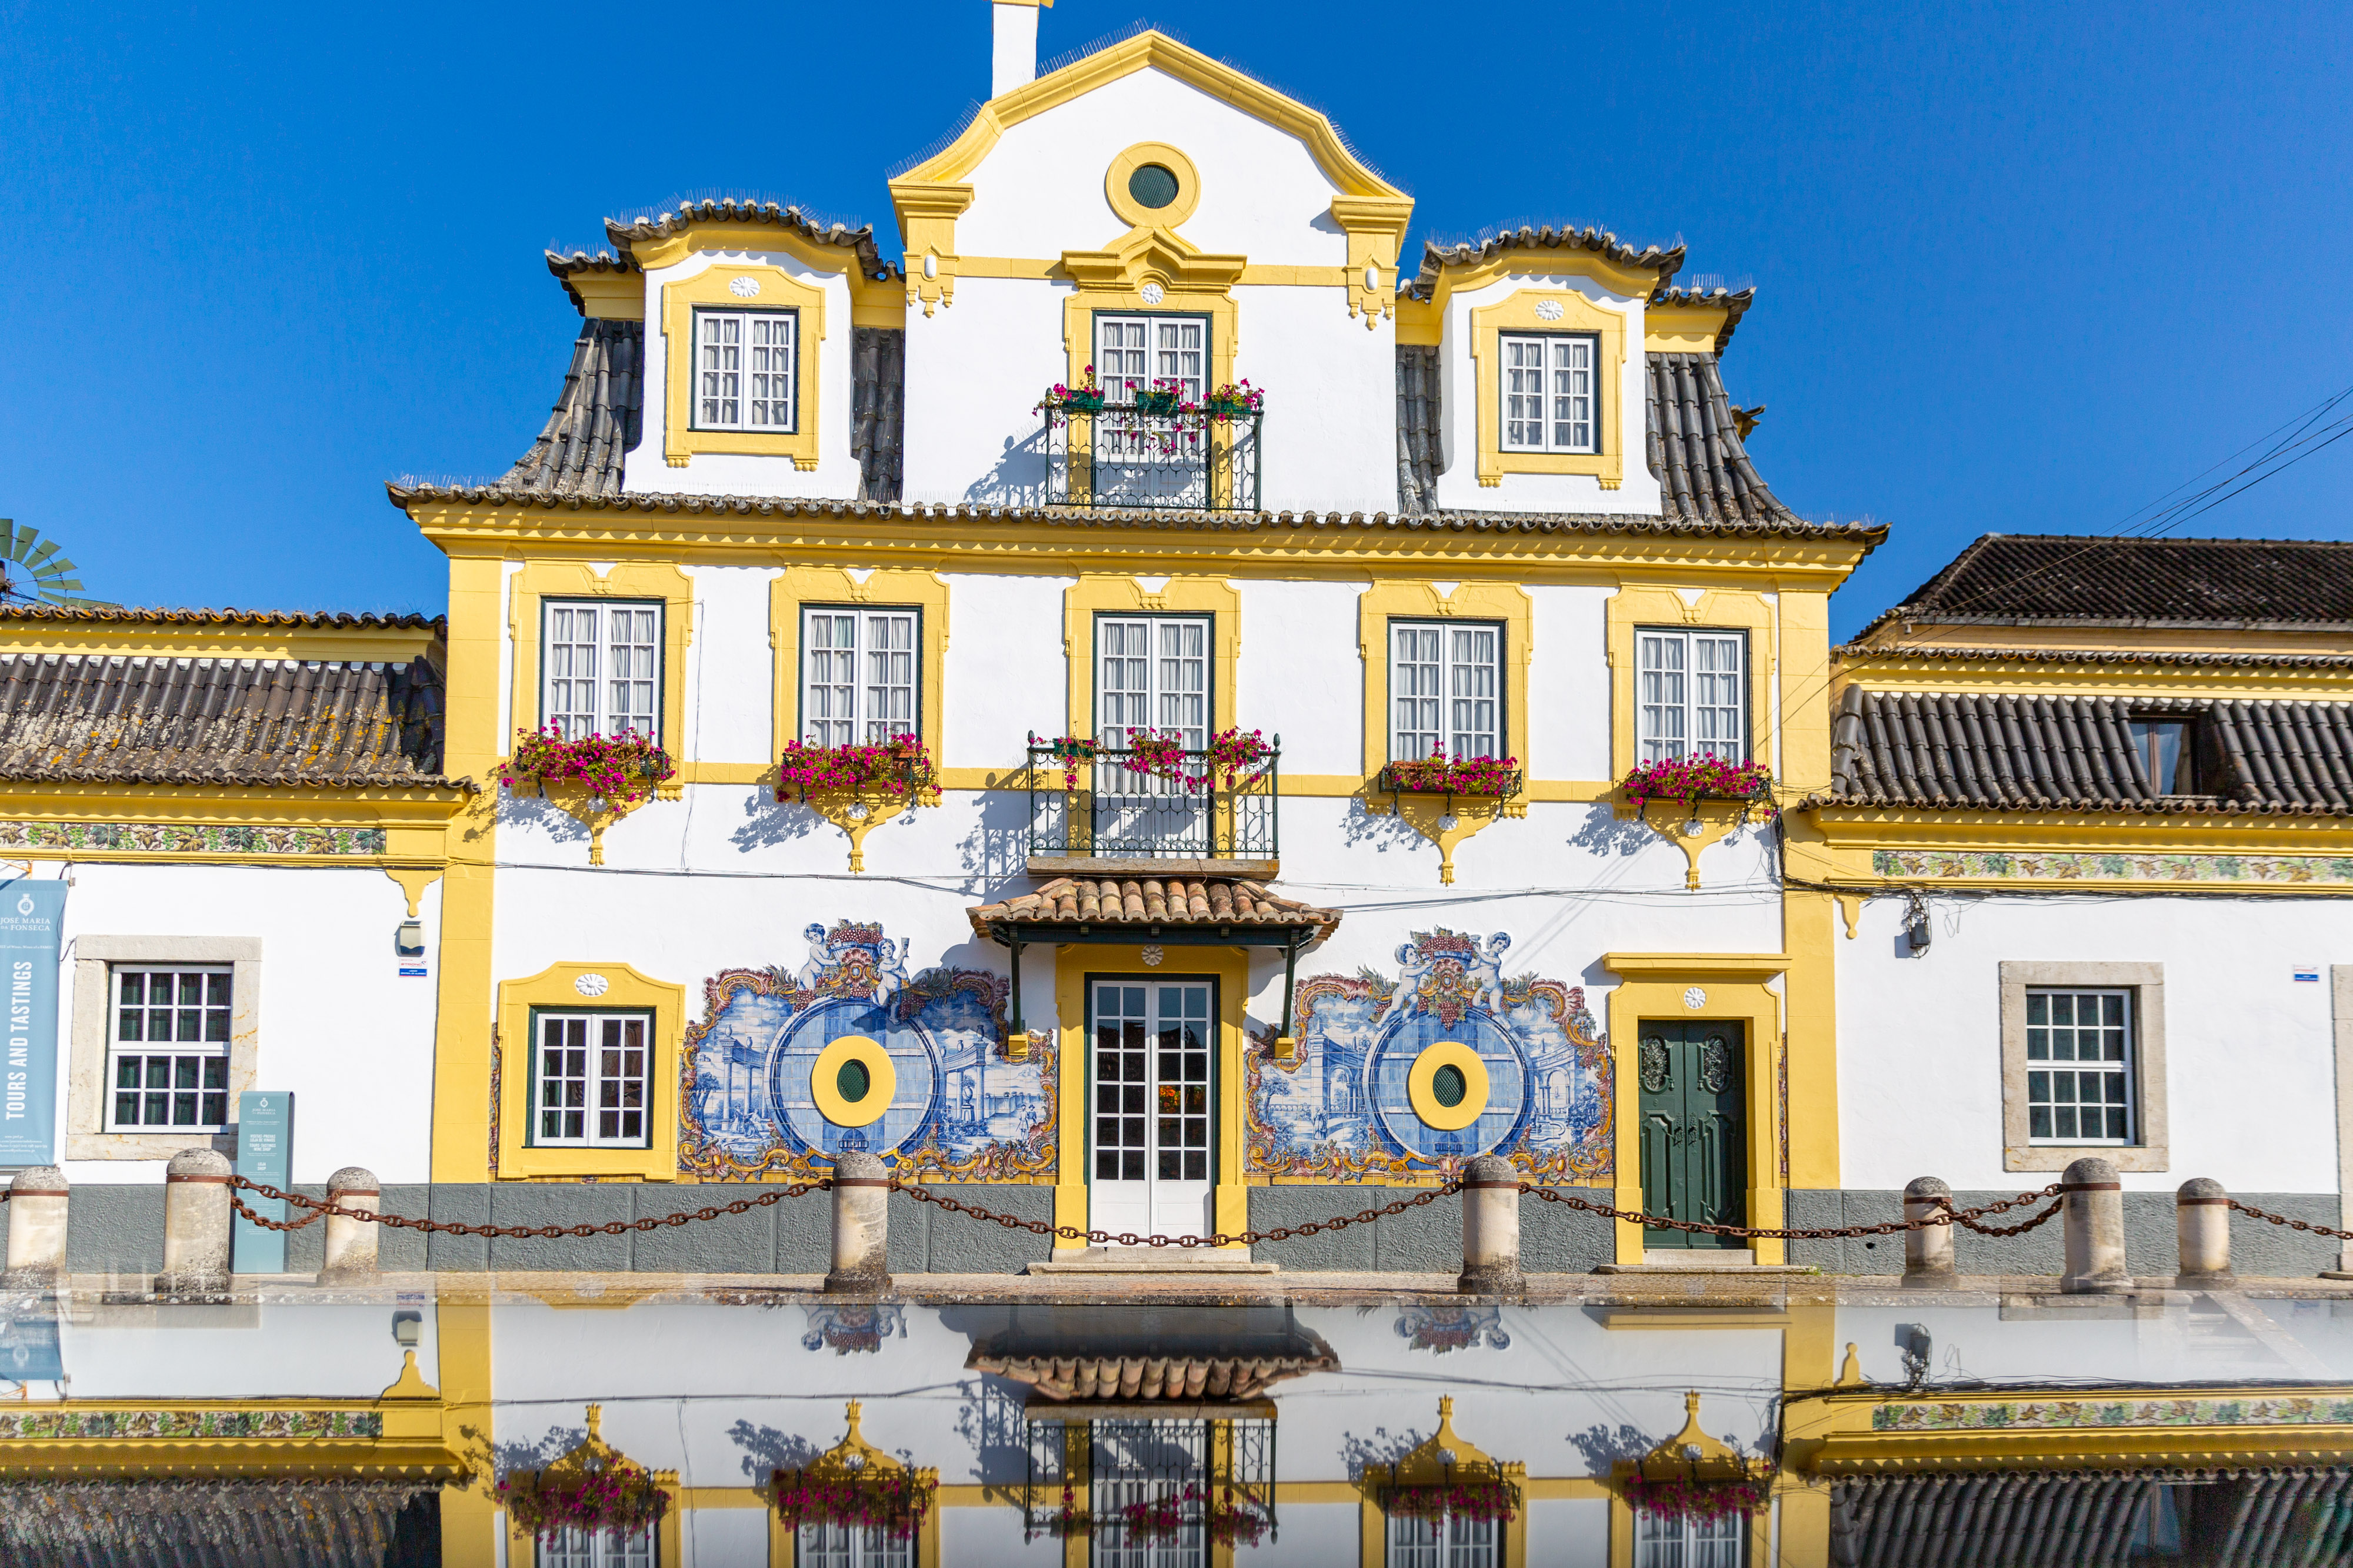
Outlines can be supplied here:
<path id="1" fill-rule="evenodd" d="M 786 456 L 696 451 L 685 468 L 671 468 L 664 458 L 671 350 L 680 348 L 689 355 L 689 374 L 694 362 L 692 346 L 673 346 L 661 329 L 661 289 L 725 266 L 772 266 L 826 294 L 824 339 L 816 336 L 809 313 L 800 313 L 800 353 L 816 353 L 816 407 L 800 409 L 802 428 L 807 421 L 816 421 L 816 468 L 809 473 L 795 468 L 793 458 Z M 849 498 L 859 494 L 859 465 L 849 454 L 849 280 L 842 273 L 819 273 L 791 252 L 694 252 L 675 266 L 647 270 L 645 315 L 645 425 L 624 468 L 626 489 L 685 496 Z"/>

